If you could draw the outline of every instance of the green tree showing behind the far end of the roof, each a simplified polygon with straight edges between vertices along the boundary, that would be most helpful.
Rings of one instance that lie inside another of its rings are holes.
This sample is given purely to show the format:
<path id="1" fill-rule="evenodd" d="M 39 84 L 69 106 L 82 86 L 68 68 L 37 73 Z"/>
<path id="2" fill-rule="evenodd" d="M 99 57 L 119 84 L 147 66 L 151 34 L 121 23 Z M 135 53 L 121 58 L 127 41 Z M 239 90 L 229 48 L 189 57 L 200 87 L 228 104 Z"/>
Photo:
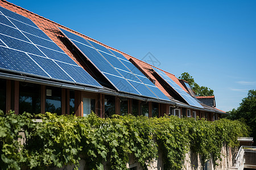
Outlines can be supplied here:
<path id="1" fill-rule="evenodd" d="M 199 86 L 193 79 L 193 76 L 189 75 L 187 72 L 182 73 L 181 76 L 179 76 L 179 79 L 186 80 L 197 96 L 213 96 L 212 89 L 205 86 Z"/>

